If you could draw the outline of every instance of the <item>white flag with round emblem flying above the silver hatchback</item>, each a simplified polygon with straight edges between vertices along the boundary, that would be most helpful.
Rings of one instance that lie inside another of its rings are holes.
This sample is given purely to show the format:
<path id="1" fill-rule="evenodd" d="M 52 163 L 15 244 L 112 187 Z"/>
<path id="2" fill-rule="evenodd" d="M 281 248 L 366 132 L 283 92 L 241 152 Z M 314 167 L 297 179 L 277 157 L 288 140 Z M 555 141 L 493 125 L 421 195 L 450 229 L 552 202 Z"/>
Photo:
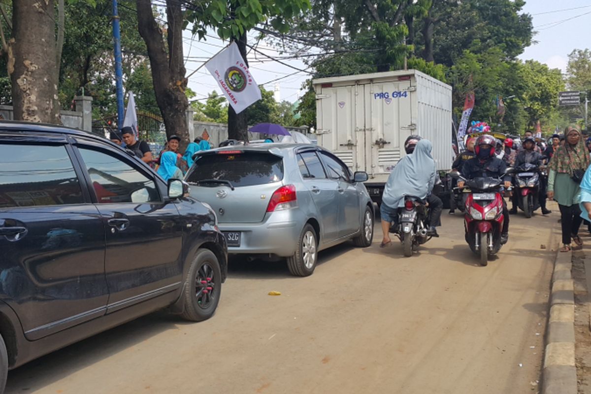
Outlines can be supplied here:
<path id="1" fill-rule="evenodd" d="M 261 99 L 259 89 L 238 50 L 236 43 L 212 57 L 205 64 L 236 113 Z"/>

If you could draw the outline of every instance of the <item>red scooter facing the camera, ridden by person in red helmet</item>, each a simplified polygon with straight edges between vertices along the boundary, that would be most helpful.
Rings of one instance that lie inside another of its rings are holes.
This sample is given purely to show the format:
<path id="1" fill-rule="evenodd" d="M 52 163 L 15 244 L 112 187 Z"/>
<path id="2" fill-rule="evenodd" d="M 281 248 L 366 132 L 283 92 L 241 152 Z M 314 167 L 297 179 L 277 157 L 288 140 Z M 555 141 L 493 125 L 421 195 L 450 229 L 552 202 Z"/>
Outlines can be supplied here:
<path id="1" fill-rule="evenodd" d="M 492 177 L 479 177 L 465 181 L 466 204 L 464 229 L 470 250 L 480 255 L 480 265 L 488 265 L 491 256 L 501 250 L 503 215 L 503 181 Z"/>

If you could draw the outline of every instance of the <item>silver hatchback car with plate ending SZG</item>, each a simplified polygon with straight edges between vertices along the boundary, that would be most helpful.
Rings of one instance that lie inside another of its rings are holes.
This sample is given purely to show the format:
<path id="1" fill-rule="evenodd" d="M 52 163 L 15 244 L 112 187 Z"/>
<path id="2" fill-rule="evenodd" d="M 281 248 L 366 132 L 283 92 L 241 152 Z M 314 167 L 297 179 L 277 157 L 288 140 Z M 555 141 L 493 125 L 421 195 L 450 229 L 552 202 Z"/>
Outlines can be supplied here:
<path id="1" fill-rule="evenodd" d="M 185 177 L 209 204 L 228 253 L 287 258 L 293 275 L 314 272 L 319 250 L 352 239 L 371 245 L 374 206 L 335 155 L 316 145 L 233 145 L 197 152 Z"/>

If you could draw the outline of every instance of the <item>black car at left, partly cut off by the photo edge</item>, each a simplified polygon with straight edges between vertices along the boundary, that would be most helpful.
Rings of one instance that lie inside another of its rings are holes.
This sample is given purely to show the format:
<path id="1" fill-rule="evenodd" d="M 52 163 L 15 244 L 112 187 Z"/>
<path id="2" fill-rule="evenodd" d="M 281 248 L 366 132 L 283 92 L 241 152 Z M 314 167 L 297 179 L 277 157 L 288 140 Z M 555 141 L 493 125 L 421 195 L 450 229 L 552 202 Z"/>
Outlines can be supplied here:
<path id="1" fill-rule="evenodd" d="M 211 317 L 227 256 L 183 181 L 89 133 L 0 122 L 0 393 L 9 369 L 152 311 Z"/>

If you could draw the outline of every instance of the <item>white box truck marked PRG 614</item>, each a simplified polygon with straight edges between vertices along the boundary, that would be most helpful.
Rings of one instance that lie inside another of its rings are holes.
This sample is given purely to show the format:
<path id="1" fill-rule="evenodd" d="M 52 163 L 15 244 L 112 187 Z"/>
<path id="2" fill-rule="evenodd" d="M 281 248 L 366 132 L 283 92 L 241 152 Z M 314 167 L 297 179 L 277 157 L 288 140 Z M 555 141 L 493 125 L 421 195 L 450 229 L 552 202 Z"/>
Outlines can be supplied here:
<path id="1" fill-rule="evenodd" d="M 437 170 L 452 167 L 452 87 L 417 70 L 313 80 L 318 144 L 352 171 L 366 171 L 372 200 L 418 134 L 433 143 Z"/>

